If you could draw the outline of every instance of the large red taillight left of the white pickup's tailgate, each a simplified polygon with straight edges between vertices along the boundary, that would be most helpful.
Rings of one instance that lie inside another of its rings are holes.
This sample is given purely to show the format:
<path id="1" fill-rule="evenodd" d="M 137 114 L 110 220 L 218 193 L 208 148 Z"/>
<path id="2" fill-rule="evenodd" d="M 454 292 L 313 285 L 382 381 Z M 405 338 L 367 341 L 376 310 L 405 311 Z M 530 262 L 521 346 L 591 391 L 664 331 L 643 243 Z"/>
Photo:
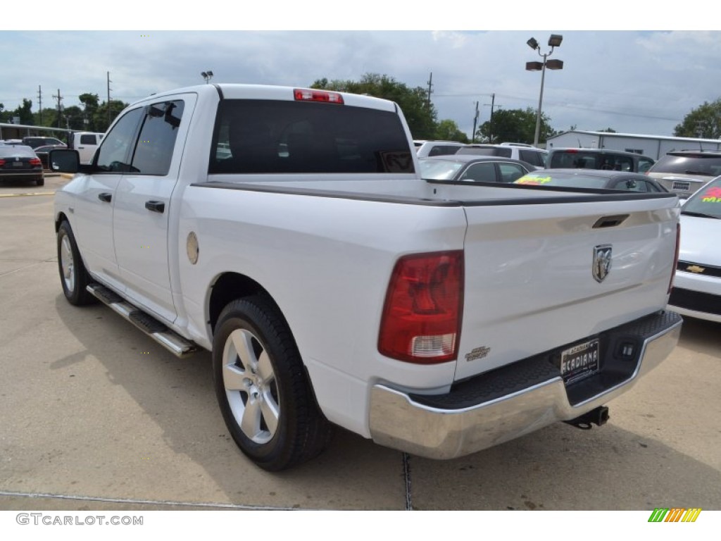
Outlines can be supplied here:
<path id="1" fill-rule="evenodd" d="M 392 359 L 412 363 L 455 360 L 463 284 L 461 250 L 400 258 L 386 292 L 378 350 Z"/>

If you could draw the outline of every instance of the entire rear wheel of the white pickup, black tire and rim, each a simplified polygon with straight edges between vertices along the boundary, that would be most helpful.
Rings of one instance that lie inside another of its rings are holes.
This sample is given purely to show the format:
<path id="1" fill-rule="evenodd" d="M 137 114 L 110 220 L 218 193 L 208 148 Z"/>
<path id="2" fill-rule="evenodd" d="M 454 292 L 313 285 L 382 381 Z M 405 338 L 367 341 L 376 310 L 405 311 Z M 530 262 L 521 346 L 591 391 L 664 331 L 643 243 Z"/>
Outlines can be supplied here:
<path id="1" fill-rule="evenodd" d="M 288 324 L 267 296 L 237 299 L 221 312 L 213 382 L 231 436 L 264 470 L 285 470 L 329 444 L 332 426 L 315 402 Z"/>

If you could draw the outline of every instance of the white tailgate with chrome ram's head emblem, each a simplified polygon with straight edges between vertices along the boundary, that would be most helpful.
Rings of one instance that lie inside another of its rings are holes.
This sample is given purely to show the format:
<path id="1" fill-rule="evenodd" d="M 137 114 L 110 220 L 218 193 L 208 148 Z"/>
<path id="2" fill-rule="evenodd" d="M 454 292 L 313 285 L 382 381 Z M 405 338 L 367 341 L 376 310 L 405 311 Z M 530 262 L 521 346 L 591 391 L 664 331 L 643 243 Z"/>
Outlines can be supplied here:
<path id="1" fill-rule="evenodd" d="M 635 194 L 604 199 L 465 207 L 466 290 L 456 380 L 573 346 L 663 309 L 678 201 Z"/>

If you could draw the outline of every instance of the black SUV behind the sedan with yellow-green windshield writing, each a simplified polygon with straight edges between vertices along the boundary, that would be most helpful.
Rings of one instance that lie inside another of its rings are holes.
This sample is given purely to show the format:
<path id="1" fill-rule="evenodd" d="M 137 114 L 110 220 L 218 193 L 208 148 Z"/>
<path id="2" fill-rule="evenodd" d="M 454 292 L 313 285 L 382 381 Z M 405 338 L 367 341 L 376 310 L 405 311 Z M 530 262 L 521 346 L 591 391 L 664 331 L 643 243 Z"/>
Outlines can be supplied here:
<path id="1" fill-rule="evenodd" d="M 654 159 L 622 150 L 551 149 L 546 158 L 549 169 L 601 169 L 609 171 L 647 172 Z"/>

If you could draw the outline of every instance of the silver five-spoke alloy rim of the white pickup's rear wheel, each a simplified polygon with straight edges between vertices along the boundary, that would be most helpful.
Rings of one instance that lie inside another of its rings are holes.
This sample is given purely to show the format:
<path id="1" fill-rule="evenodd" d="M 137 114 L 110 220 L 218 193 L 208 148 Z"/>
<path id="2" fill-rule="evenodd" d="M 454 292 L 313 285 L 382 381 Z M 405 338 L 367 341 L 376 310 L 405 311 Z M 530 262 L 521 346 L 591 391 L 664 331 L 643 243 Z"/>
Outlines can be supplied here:
<path id="1" fill-rule="evenodd" d="M 228 404 L 243 434 L 266 444 L 278 428 L 278 385 L 265 347 L 249 330 L 230 333 L 222 373 Z"/>

